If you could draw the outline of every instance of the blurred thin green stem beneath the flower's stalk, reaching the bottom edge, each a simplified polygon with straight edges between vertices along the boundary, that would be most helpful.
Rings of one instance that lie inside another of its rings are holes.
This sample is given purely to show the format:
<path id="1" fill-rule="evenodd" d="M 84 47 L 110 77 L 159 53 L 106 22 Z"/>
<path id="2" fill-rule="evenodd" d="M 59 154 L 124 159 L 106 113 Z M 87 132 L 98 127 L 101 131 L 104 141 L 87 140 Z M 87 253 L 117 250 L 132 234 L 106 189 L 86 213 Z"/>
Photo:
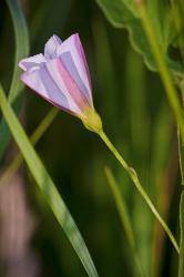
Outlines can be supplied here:
<path id="1" fill-rule="evenodd" d="M 109 167 L 105 167 L 105 175 L 106 175 L 106 179 L 108 179 L 108 184 L 110 186 L 110 189 L 114 196 L 115 205 L 116 205 L 125 235 L 127 237 L 127 242 L 129 242 L 130 247 L 132 249 L 135 264 L 136 264 L 137 269 L 139 269 L 139 275 L 143 277 L 143 276 L 145 276 L 145 274 L 144 274 L 144 270 L 142 267 L 142 263 L 141 263 L 141 260 L 137 256 L 137 253 L 136 253 L 134 234 L 133 234 L 133 229 L 131 226 L 131 222 L 129 219 L 126 205 L 123 201 L 123 196 L 121 195 L 119 185 L 117 185 L 117 183 L 116 183 L 116 181 L 115 181 L 115 178 L 114 178 L 114 176 Z"/>

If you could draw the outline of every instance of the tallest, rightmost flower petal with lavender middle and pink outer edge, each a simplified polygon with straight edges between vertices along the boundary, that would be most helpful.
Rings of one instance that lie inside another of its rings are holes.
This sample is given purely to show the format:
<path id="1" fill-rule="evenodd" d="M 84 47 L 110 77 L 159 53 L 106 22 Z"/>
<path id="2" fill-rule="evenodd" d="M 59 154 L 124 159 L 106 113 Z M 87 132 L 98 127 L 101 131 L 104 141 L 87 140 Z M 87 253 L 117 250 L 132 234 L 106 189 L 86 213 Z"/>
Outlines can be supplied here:
<path id="1" fill-rule="evenodd" d="M 79 35 L 71 35 L 57 51 L 89 105 L 93 107 L 90 74 Z"/>

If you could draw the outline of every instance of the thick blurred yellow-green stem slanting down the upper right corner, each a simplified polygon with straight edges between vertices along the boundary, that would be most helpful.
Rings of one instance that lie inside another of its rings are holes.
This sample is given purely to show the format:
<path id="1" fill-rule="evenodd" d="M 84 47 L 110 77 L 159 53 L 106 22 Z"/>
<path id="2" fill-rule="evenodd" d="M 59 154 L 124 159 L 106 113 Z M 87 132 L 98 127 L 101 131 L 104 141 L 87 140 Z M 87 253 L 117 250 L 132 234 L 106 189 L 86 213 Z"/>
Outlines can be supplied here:
<path id="1" fill-rule="evenodd" d="M 155 58 L 155 61 L 159 66 L 160 75 L 163 82 L 163 85 L 165 88 L 165 92 L 170 102 L 170 105 L 173 110 L 173 113 L 175 115 L 176 122 L 180 126 L 182 137 L 184 137 L 184 116 L 182 106 L 177 96 L 177 91 L 175 90 L 172 75 L 170 73 L 170 70 L 167 68 L 164 52 L 162 49 L 162 45 L 157 43 L 157 38 L 153 28 L 153 24 L 147 16 L 146 7 L 144 3 L 144 0 L 136 1 L 140 17 L 142 20 L 142 25 L 144 28 L 145 34 L 147 37 L 147 40 L 150 42 L 150 45 L 152 48 L 153 55 Z"/>

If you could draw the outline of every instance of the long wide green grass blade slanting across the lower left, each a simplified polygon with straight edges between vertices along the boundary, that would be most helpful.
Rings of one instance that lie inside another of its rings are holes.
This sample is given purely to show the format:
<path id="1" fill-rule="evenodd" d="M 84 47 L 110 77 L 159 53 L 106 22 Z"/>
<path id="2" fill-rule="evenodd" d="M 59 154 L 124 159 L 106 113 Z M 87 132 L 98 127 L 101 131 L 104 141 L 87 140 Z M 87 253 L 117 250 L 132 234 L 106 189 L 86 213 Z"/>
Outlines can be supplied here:
<path id="1" fill-rule="evenodd" d="M 14 137 L 14 141 L 17 142 L 18 147 L 20 148 L 21 154 L 24 157 L 27 165 L 32 176 L 34 177 L 45 202 L 58 219 L 60 226 L 63 228 L 88 275 L 90 277 L 98 277 L 98 273 L 95 270 L 89 250 L 73 218 L 62 197 L 60 196 L 53 181 L 51 179 L 44 165 L 42 164 L 40 157 L 32 147 L 13 110 L 8 103 L 2 86 L 0 86 L 0 105 L 2 115 L 4 116 L 7 124 Z"/>

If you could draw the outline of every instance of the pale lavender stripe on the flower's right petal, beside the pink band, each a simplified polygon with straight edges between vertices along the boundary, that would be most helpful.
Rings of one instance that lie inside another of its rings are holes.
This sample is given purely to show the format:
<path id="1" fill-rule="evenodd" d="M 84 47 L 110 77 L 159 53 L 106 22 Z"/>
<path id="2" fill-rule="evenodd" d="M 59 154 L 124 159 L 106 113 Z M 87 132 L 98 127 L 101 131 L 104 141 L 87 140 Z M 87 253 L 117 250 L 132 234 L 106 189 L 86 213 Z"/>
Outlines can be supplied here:
<path id="1" fill-rule="evenodd" d="M 83 96 L 86 99 L 89 105 L 93 106 L 91 92 L 89 92 L 85 84 L 83 83 L 83 81 L 78 72 L 78 69 L 72 60 L 71 53 L 64 52 L 63 54 L 61 54 L 60 59 L 62 60 L 67 70 L 70 72 L 73 80 L 75 81 L 75 83 L 76 83 L 78 88 L 80 89 L 80 91 L 82 92 Z"/>

